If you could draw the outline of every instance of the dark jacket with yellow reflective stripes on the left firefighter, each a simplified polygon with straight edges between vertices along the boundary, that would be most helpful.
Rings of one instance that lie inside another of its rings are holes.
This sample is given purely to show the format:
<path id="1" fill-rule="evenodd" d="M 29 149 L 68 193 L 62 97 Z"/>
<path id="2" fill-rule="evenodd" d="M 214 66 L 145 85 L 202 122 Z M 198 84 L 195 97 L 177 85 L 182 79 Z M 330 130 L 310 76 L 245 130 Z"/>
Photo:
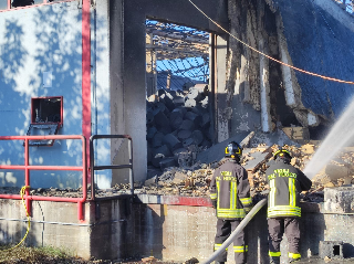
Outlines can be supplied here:
<path id="1" fill-rule="evenodd" d="M 217 209 L 218 219 L 243 219 L 251 209 L 248 175 L 236 160 L 228 159 L 215 170 L 210 182 L 210 199 Z"/>

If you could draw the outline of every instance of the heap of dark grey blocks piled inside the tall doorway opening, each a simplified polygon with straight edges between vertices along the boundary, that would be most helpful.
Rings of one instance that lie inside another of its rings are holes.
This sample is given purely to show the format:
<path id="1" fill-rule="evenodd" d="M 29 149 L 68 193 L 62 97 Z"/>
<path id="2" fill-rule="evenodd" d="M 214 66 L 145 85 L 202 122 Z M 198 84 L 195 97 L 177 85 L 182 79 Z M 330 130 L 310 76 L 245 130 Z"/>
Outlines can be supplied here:
<path id="1" fill-rule="evenodd" d="M 211 146 L 208 86 L 188 92 L 158 89 L 146 101 L 147 163 L 164 170 L 190 166 L 199 148 Z"/>

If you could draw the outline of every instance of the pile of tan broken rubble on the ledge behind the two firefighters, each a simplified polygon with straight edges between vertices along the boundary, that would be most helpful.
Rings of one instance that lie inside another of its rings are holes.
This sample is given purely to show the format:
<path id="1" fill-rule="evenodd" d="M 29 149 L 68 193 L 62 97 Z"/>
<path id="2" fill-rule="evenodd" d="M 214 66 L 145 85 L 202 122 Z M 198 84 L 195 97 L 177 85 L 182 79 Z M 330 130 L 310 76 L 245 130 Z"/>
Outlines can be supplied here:
<path id="1" fill-rule="evenodd" d="M 287 146 L 292 151 L 291 163 L 303 170 L 311 159 L 317 146 L 303 145 L 301 147 Z M 259 145 L 257 148 L 244 148 L 241 165 L 249 173 L 251 196 L 253 199 L 261 198 L 269 192 L 266 180 L 267 168 L 274 162 L 273 152 L 280 148 L 278 145 L 271 147 Z M 313 179 L 310 191 L 302 193 L 304 201 L 322 202 L 323 189 L 326 187 L 340 187 L 354 183 L 354 149 L 342 151 Z M 146 180 L 140 188 L 135 189 L 136 193 L 162 194 L 162 196 L 189 196 L 209 197 L 209 183 L 215 169 L 225 162 L 225 159 L 212 163 L 195 163 L 192 167 L 170 167 L 164 172 Z M 137 184 L 138 187 L 138 184 Z M 115 186 L 115 189 L 128 189 L 127 187 Z"/>

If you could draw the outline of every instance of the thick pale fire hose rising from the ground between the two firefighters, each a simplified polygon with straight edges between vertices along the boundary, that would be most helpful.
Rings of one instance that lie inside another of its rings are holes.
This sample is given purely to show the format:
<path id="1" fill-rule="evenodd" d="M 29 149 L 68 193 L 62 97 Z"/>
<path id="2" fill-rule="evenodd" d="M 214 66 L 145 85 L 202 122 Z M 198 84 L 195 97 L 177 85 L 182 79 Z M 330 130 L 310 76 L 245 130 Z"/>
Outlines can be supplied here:
<path id="1" fill-rule="evenodd" d="M 261 200 L 258 202 L 252 210 L 246 215 L 246 218 L 240 222 L 240 224 L 233 230 L 230 236 L 222 243 L 222 245 L 209 256 L 208 260 L 202 262 L 202 264 L 209 264 L 217 258 L 217 256 L 223 252 L 235 240 L 236 235 L 240 233 L 244 226 L 251 221 L 251 219 L 258 213 L 258 211 L 267 203 L 267 199 Z"/>

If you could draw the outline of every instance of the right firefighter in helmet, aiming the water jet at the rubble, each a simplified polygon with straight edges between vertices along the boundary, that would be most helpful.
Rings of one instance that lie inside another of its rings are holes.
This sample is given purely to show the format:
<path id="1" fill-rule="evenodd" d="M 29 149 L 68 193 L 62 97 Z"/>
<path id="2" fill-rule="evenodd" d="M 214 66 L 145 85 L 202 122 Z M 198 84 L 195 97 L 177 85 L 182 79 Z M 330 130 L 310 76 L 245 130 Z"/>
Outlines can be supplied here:
<path id="1" fill-rule="evenodd" d="M 289 242 L 289 262 L 296 262 L 300 254 L 300 193 L 310 190 L 312 181 L 290 161 L 289 150 L 279 149 L 274 152 L 274 165 L 271 165 L 266 177 L 269 183 L 268 196 L 268 232 L 270 263 L 280 263 L 280 243 L 283 233 Z"/>

